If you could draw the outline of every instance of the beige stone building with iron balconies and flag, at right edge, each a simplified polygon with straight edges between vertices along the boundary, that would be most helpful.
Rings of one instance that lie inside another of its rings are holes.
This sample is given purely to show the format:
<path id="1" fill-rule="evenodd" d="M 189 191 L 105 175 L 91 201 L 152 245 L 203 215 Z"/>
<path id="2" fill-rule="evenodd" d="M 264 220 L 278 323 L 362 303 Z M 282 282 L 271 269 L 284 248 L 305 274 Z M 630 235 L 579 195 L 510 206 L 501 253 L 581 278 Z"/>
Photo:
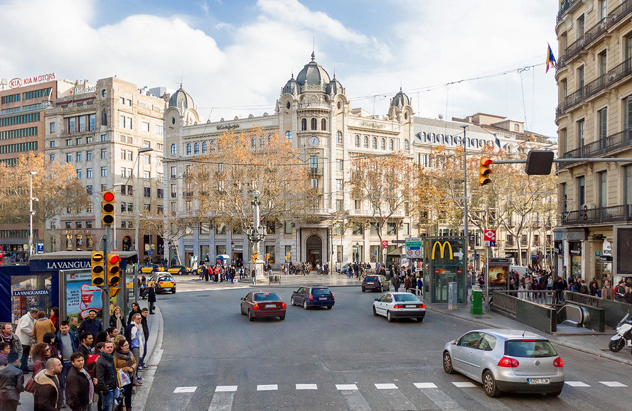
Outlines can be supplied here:
<path id="1" fill-rule="evenodd" d="M 560 163 L 558 273 L 632 275 L 632 3 L 562 1 L 556 123 Z"/>

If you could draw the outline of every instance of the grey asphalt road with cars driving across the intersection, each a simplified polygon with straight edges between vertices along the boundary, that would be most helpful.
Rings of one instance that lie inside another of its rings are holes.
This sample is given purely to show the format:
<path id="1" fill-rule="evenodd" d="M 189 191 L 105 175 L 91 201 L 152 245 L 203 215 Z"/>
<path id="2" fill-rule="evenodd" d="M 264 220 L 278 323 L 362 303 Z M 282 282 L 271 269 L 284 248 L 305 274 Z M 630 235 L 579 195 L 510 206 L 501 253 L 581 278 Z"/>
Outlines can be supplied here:
<path id="1" fill-rule="evenodd" d="M 441 368 L 446 341 L 478 324 L 436 312 L 428 312 L 421 324 L 389 323 L 371 312 L 379 294 L 359 287 L 332 287 L 333 309 L 307 311 L 289 305 L 291 288 L 277 288 L 288 303 L 286 319 L 248 322 L 239 306 L 248 290 L 159 296 L 164 352 L 146 410 L 627 407 L 632 368 L 606 358 L 556 347 L 568 383 L 559 398 L 492 399 L 481 385 L 461 386 L 468 378 L 447 375 Z"/>

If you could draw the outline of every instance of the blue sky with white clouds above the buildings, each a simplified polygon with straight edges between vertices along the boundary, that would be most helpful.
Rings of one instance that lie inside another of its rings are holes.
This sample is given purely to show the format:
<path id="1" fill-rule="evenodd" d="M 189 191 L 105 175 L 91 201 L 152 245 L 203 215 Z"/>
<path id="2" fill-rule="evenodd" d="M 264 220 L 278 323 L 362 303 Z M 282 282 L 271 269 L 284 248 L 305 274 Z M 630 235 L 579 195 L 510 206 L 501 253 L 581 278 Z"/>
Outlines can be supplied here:
<path id="1" fill-rule="evenodd" d="M 311 60 L 353 108 L 385 115 L 400 90 L 416 116 L 477 112 L 555 138 L 552 0 L 0 0 L 0 78 L 117 76 L 183 85 L 200 119 L 274 113 Z M 535 66 L 535 67 L 534 67 Z"/>

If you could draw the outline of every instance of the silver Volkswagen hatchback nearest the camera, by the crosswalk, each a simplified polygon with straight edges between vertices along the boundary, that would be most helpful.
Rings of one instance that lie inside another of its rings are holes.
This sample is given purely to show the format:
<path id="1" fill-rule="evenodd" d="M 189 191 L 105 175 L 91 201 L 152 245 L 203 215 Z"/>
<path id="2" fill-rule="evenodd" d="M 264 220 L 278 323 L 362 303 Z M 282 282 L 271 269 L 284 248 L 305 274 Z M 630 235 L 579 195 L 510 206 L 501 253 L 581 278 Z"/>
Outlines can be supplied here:
<path id="1" fill-rule="evenodd" d="M 503 391 L 559 395 L 564 362 L 545 337 L 517 329 L 476 329 L 447 343 L 446 373 L 458 371 L 483 384 L 485 393 Z"/>

